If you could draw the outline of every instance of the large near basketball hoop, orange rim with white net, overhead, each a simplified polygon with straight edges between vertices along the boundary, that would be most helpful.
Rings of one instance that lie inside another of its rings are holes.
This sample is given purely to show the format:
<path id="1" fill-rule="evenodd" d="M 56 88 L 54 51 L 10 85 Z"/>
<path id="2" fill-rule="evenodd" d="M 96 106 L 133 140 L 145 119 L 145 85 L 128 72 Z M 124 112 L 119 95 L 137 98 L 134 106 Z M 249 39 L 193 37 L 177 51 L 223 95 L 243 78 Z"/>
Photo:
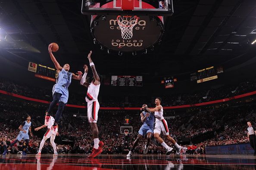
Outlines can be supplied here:
<path id="1" fill-rule="evenodd" d="M 117 16 L 117 23 L 121 29 L 122 38 L 127 40 L 132 38 L 132 28 L 138 23 L 138 17 L 134 16 Z"/>

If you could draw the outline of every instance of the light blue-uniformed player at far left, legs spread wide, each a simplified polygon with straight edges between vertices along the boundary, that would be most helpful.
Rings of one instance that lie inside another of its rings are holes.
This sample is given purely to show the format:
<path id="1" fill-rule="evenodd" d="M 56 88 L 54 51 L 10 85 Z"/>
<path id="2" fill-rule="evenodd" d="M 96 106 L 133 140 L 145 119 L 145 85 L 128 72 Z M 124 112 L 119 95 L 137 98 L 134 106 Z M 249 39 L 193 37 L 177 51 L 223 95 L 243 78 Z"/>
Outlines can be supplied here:
<path id="1" fill-rule="evenodd" d="M 20 126 L 19 126 L 19 135 L 17 136 L 16 140 L 3 152 L 3 155 L 6 155 L 7 151 L 12 148 L 13 145 L 15 145 L 18 141 L 21 141 L 21 139 L 24 139 L 26 142 L 26 145 L 24 147 L 23 145 L 23 151 L 22 151 L 22 155 L 27 155 L 26 154 L 26 148 L 28 148 L 28 143 L 29 143 L 29 136 L 28 136 L 28 131 L 30 133 L 31 136 L 33 136 L 33 134 L 31 133 L 31 117 L 28 116 L 27 117 L 27 121 L 24 121 Z"/>

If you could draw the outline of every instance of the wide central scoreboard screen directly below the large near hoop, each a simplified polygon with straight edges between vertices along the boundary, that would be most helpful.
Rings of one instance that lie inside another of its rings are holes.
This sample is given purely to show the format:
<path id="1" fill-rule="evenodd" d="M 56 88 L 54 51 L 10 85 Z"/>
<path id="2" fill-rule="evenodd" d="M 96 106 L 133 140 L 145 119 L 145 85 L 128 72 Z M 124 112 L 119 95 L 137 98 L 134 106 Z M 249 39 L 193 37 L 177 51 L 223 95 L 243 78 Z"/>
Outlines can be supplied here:
<path id="1" fill-rule="evenodd" d="M 111 86 L 138 86 L 142 87 L 142 76 L 112 76 Z"/>

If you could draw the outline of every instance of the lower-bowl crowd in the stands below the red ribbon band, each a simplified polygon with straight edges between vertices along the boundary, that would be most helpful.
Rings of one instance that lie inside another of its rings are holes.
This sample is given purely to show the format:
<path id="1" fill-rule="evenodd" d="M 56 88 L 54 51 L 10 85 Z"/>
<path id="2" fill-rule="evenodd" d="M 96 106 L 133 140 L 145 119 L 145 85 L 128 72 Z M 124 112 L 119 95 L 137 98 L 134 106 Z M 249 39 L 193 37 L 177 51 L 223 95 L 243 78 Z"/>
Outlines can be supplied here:
<path id="1" fill-rule="evenodd" d="M 30 137 L 28 153 L 37 153 L 41 142 L 41 136 L 43 135 L 39 136 L 37 132 L 34 132 L 34 128 L 41 126 L 44 122 L 44 111 L 46 106 L 21 106 L 18 103 L 9 104 L 0 102 L 0 108 L 0 114 L 2 115 L 0 118 L 0 153 L 3 153 L 10 143 L 15 140 L 19 133 L 19 130 L 17 130 L 19 124 L 25 121 L 28 114 L 31 115 L 32 132 L 34 133 L 34 135 Z M 167 122 L 169 124 L 170 135 L 176 139 L 177 142 L 180 142 L 184 137 L 192 139 L 194 136 L 200 136 L 203 133 L 214 131 L 216 127 L 218 127 L 218 124 L 225 125 L 225 130 L 215 133 L 215 136 L 211 139 L 207 139 L 196 145 L 184 145 L 184 154 L 203 154 L 205 146 L 248 142 L 246 133 L 247 124 L 246 120 L 243 118 L 253 115 L 255 110 L 256 106 L 254 105 L 227 107 L 218 110 L 198 111 L 196 113 L 176 115 L 173 119 L 167 119 Z M 90 153 L 94 141 L 92 139 L 91 127 L 87 121 L 87 117 L 79 114 L 74 117 L 73 114 L 68 114 L 67 112 L 68 111 L 66 111 L 61 118 L 59 140 L 73 141 L 73 143 L 69 145 L 58 145 L 58 142 L 56 142 L 58 152 Z M 172 112 L 166 116 L 172 116 Z M 128 134 L 128 137 L 125 137 L 124 134 L 120 134 L 120 126 L 123 126 L 124 117 L 131 118 L 131 124 L 129 126 L 133 127 L 133 133 Z M 191 125 L 190 128 L 182 127 L 182 125 L 187 122 Z M 137 138 L 137 132 L 140 129 L 141 124 L 139 112 L 100 110 L 98 126 L 100 140 L 105 143 L 103 146 L 103 153 L 128 153 L 132 143 Z M 42 133 L 44 133 L 44 130 L 42 131 Z M 163 137 L 163 139 L 165 138 Z M 22 151 L 24 142 L 25 141 L 23 140 L 18 142 L 10 149 L 11 151 L 9 153 L 19 154 L 20 151 Z M 145 143 L 146 140 L 142 139 L 134 152 L 142 154 Z M 170 142 L 166 141 L 166 143 L 172 146 Z M 42 153 L 53 153 L 50 141 L 45 142 Z M 165 150 L 154 138 L 152 138 L 148 153 L 164 154 Z"/>

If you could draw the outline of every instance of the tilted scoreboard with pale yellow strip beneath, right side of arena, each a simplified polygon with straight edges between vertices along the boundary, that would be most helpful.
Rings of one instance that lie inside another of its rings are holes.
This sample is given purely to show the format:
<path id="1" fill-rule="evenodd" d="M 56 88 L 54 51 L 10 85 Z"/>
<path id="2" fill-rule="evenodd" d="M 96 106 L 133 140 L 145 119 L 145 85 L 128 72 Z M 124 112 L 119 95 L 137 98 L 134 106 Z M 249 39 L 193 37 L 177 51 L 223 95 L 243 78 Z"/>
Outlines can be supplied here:
<path id="1" fill-rule="evenodd" d="M 197 83 L 202 83 L 209 80 L 214 80 L 218 78 L 217 74 L 223 73 L 223 68 L 218 67 L 217 69 L 214 66 L 203 68 L 197 72 L 190 74 L 190 81 L 197 80 Z"/>

